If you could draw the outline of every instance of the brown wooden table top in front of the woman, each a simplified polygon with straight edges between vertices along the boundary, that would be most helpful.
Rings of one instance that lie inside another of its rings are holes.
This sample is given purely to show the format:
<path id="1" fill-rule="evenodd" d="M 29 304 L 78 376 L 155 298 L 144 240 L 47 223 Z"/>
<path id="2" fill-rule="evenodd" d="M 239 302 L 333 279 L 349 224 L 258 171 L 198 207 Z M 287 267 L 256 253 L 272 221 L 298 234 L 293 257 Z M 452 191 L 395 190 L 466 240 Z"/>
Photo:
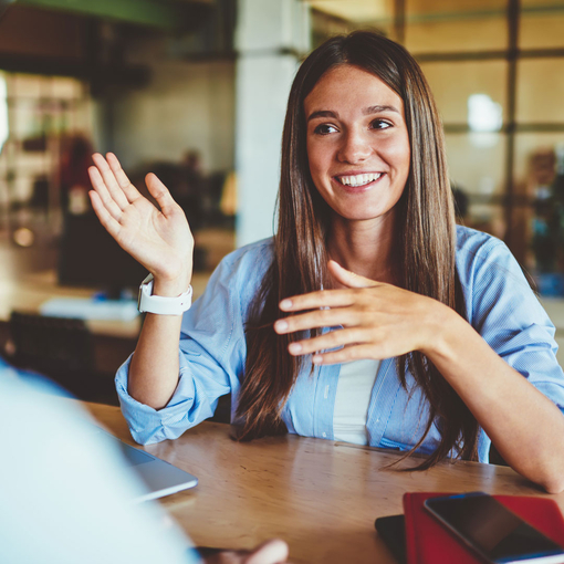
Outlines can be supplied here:
<path id="1" fill-rule="evenodd" d="M 86 406 L 135 445 L 118 408 Z M 292 435 L 239 443 L 230 430 L 203 422 L 145 447 L 198 477 L 195 489 L 161 500 L 198 545 L 242 549 L 276 536 L 294 563 L 395 564 L 374 520 L 403 513 L 407 491 L 547 495 L 510 468 L 458 462 L 398 472 L 384 468 L 397 455 L 378 449 Z M 564 493 L 552 498 L 564 512 Z"/>

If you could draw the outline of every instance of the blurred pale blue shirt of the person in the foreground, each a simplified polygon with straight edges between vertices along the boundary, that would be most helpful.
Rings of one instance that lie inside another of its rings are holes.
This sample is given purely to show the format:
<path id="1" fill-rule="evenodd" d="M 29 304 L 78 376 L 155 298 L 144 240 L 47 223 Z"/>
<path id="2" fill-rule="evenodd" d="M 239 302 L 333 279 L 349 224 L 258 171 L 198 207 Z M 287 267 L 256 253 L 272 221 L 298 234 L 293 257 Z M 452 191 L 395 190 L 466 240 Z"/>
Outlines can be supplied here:
<path id="1" fill-rule="evenodd" d="M 0 358 L 0 561 L 199 563 L 156 503 L 132 503 L 143 487 L 86 414 L 40 386 Z"/>

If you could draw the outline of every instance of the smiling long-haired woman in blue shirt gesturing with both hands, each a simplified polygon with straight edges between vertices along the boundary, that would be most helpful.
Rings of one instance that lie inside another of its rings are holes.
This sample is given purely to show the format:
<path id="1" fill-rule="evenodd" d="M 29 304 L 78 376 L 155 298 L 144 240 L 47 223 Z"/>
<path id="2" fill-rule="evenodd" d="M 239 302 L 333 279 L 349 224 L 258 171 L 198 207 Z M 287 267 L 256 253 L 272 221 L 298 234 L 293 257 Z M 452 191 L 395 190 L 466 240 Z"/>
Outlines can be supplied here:
<path id="1" fill-rule="evenodd" d="M 94 159 L 101 221 L 154 274 L 154 294 L 178 296 L 192 250 L 181 211 L 155 176 L 161 212 L 115 156 Z M 184 318 L 148 314 L 117 387 L 142 442 L 179 436 L 231 391 L 243 438 L 289 430 L 418 450 L 429 455 L 420 469 L 488 461 L 491 439 L 555 492 L 564 376 L 553 333 L 504 244 L 456 228 L 419 66 L 356 32 L 315 50 L 294 80 L 275 238 L 227 257 Z"/>

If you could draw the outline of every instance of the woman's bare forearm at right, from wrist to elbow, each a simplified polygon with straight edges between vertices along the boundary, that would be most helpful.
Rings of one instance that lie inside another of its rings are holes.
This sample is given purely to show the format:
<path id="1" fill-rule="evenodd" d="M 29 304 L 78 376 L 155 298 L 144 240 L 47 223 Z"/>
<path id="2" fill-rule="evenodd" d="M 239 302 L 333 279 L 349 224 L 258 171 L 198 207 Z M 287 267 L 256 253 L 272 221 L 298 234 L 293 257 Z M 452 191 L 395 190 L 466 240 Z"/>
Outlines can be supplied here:
<path id="1" fill-rule="evenodd" d="M 424 351 L 474 415 L 504 460 L 549 492 L 564 489 L 564 415 L 509 366 L 458 314 Z"/>

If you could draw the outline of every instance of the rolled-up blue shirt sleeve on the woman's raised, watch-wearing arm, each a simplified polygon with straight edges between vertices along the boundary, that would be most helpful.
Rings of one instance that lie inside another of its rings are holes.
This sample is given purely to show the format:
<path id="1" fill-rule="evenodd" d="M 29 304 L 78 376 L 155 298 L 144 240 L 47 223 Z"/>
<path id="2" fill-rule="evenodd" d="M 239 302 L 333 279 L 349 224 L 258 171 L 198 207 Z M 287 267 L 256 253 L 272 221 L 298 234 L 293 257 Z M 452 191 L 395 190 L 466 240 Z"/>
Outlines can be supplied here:
<path id="1" fill-rule="evenodd" d="M 178 385 L 163 409 L 154 409 L 129 396 L 127 378 L 132 357 L 118 369 L 117 394 L 135 441 L 150 445 L 176 439 L 211 417 L 220 396 L 231 393 L 237 398 L 247 355 L 247 310 L 270 258 L 269 252 L 260 252 L 257 246 L 260 243 L 223 259 L 203 295 L 184 315 Z M 232 404 L 233 412 L 236 403 Z"/>

